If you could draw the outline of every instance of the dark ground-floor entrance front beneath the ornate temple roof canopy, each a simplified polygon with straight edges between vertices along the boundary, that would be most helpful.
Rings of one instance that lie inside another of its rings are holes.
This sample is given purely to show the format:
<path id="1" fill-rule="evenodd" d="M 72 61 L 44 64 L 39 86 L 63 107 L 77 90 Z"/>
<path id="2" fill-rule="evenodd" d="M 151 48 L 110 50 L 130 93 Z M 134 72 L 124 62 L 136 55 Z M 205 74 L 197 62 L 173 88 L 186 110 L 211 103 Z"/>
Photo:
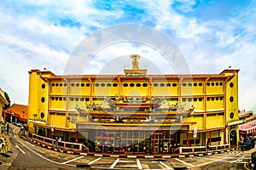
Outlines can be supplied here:
<path id="1" fill-rule="evenodd" d="M 180 132 L 170 130 L 152 132 L 98 129 L 83 137 L 90 150 L 100 153 L 168 154 L 174 153 L 180 146 Z M 89 144 L 89 137 L 94 144 Z"/>

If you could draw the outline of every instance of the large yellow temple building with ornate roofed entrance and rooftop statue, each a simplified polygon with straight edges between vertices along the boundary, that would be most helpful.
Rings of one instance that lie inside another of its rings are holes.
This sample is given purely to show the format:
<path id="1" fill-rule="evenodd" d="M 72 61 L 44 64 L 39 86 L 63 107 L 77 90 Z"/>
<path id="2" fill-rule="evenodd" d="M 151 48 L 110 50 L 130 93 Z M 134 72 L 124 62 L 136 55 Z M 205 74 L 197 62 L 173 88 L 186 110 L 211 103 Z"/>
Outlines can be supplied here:
<path id="1" fill-rule="evenodd" d="M 239 70 L 148 75 L 139 57 L 131 55 L 123 75 L 29 71 L 29 133 L 61 136 L 99 152 L 111 147 L 157 154 L 172 153 L 173 145 L 238 144 Z"/>

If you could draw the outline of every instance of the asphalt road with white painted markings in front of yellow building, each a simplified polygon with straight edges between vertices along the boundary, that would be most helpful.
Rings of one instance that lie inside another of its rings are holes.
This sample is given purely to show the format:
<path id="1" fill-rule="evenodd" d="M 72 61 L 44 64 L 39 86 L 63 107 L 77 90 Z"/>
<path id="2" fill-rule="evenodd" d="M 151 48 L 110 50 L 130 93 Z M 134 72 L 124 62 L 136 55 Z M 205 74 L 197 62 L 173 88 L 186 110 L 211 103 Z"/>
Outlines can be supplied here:
<path id="1" fill-rule="evenodd" d="M 15 127 L 14 127 L 15 128 Z M 7 156 L 0 156 L 0 169 L 248 169 L 255 150 L 224 152 L 212 156 L 184 158 L 117 158 L 82 156 L 61 153 L 32 144 L 18 135 L 9 134 L 13 148 Z"/>

